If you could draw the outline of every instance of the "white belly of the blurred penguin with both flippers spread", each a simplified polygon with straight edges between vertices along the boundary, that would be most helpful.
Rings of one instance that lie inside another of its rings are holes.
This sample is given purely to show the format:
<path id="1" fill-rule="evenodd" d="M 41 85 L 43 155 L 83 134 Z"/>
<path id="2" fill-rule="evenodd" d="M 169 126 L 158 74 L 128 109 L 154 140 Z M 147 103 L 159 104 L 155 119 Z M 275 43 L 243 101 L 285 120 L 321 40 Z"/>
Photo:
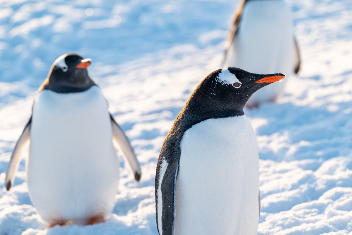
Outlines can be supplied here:
<path id="1" fill-rule="evenodd" d="M 39 93 L 33 106 L 27 181 L 49 223 L 108 214 L 119 162 L 107 103 L 96 86 L 85 92 Z"/>

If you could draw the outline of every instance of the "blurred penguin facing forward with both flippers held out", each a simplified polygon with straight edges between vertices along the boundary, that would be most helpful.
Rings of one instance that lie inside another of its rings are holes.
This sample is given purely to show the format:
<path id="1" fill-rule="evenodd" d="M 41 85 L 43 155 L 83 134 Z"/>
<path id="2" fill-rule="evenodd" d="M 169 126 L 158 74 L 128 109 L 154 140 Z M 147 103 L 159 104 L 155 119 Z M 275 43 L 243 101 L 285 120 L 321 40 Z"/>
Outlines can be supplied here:
<path id="1" fill-rule="evenodd" d="M 113 209 L 119 180 L 114 143 L 134 179 L 141 177 L 130 142 L 109 113 L 100 87 L 88 75 L 90 63 L 78 54 L 55 60 L 34 98 L 32 115 L 6 171 L 5 184 L 10 190 L 20 156 L 29 143 L 29 195 L 50 227 L 71 221 L 105 221 Z"/>

